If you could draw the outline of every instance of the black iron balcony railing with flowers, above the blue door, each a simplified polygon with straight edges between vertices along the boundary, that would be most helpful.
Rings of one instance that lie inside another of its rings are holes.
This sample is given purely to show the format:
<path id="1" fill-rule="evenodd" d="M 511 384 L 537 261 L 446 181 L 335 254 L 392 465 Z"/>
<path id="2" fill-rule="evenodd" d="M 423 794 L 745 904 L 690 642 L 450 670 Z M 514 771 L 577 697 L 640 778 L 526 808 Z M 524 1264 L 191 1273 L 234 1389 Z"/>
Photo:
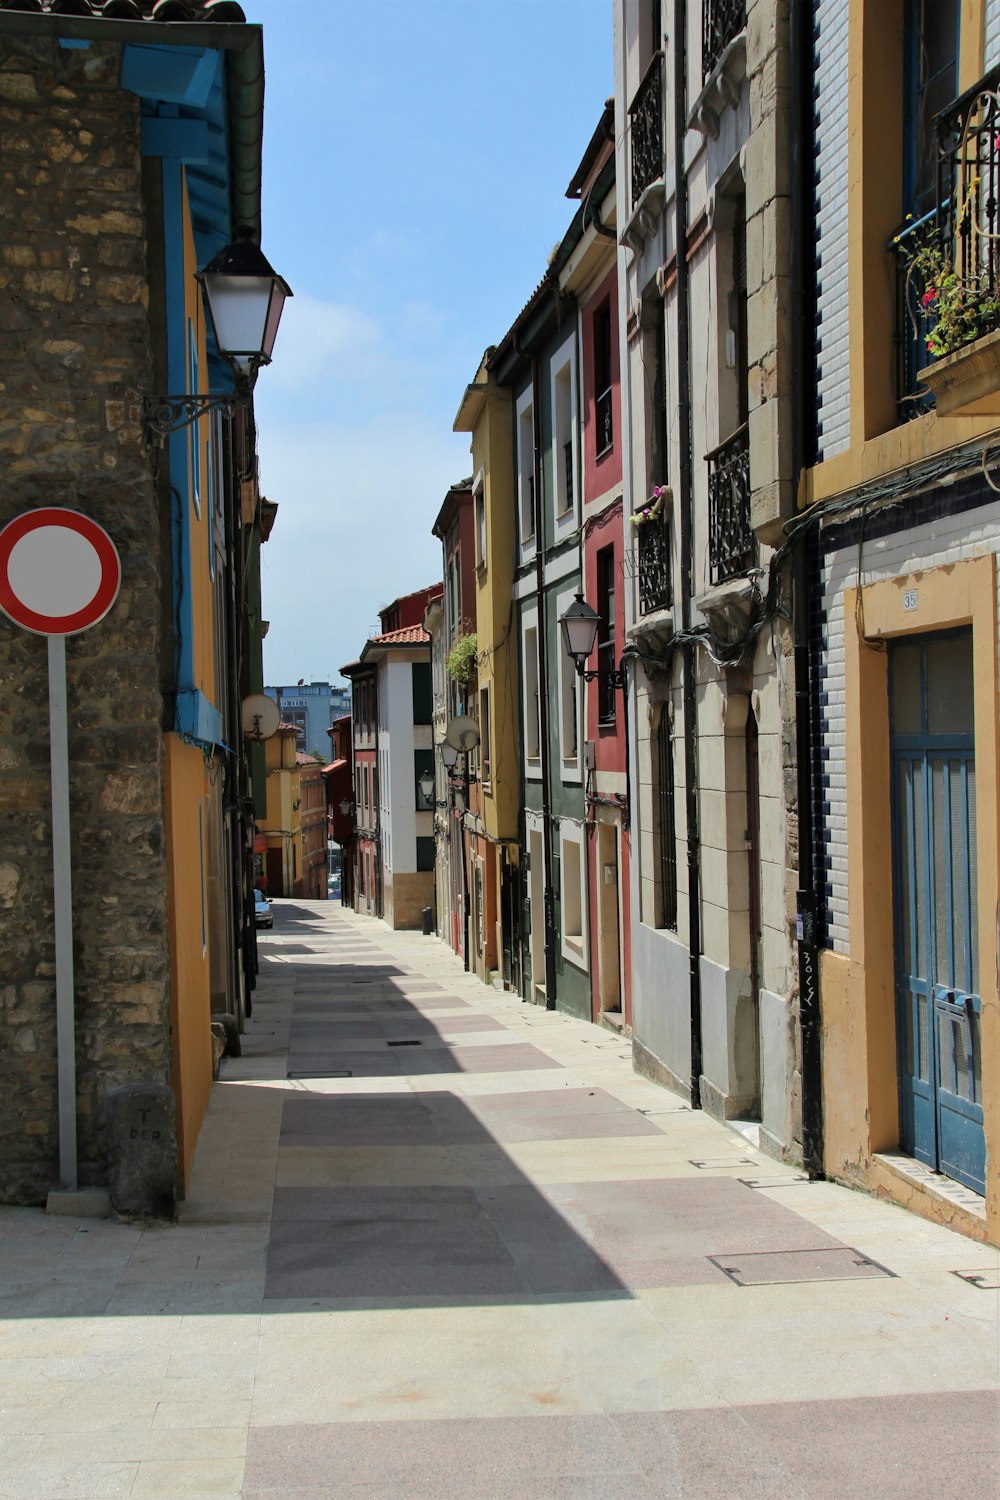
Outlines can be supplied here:
<path id="1" fill-rule="evenodd" d="M 919 369 L 1000 327 L 1000 68 L 942 110 L 934 134 L 937 206 L 892 240 L 901 418 L 930 404 Z"/>

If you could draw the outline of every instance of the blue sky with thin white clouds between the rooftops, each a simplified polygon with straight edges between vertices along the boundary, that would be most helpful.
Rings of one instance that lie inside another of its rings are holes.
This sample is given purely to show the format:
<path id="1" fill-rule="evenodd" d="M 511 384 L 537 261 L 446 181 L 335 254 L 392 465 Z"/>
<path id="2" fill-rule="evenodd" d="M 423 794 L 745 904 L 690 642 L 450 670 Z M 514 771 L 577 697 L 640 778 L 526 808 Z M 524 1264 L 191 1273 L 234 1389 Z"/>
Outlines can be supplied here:
<path id="1" fill-rule="evenodd" d="M 262 249 L 289 282 L 256 386 L 268 682 L 337 680 L 441 574 L 451 432 L 541 279 L 613 87 L 612 0 L 243 0 L 264 26 Z"/>

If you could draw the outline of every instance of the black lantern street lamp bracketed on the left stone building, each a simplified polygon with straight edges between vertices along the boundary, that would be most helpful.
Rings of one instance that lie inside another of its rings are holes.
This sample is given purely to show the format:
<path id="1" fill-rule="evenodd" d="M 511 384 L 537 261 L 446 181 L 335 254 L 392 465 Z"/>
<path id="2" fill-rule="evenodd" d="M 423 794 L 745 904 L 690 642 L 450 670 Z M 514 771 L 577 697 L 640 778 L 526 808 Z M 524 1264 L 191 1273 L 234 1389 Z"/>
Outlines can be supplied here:
<path id="1" fill-rule="evenodd" d="M 162 441 L 171 432 L 189 428 L 210 411 L 232 417 L 250 400 L 250 390 L 261 364 L 270 364 L 274 336 L 285 300 L 292 296 L 253 243 L 252 231 L 241 230 L 232 244 L 196 273 L 216 333 L 216 344 L 229 362 L 235 388 L 228 393 L 183 396 L 144 396 L 142 426 L 147 440 Z"/>

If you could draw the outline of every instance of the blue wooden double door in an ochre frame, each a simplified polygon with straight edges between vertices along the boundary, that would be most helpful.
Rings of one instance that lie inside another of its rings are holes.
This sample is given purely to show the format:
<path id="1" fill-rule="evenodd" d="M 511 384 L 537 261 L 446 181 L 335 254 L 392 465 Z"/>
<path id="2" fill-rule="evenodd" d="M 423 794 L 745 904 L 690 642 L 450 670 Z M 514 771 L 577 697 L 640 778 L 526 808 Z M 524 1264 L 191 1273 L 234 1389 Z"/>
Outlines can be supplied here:
<path id="1" fill-rule="evenodd" d="M 891 648 L 903 1148 L 982 1192 L 972 634 Z"/>

